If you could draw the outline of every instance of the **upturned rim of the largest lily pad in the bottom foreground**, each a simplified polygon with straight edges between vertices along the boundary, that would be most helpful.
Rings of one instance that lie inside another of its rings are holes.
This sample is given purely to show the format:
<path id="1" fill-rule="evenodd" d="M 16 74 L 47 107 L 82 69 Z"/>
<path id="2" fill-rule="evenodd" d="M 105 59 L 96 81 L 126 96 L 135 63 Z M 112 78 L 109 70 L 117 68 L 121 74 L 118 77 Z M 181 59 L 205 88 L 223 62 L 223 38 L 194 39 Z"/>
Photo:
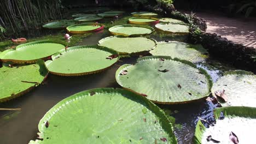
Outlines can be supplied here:
<path id="1" fill-rule="evenodd" d="M 51 113 L 54 112 L 55 107 L 63 106 L 63 105 L 65 105 L 66 101 L 72 100 L 72 99 L 75 99 L 75 98 L 78 98 L 78 97 L 81 97 L 80 95 L 82 95 L 82 97 L 83 97 L 83 95 L 90 95 L 90 92 L 96 92 L 96 93 L 120 92 L 122 94 L 132 95 L 132 97 L 135 97 L 136 99 L 145 101 L 146 102 L 146 106 L 148 107 L 148 109 L 152 110 L 153 113 L 155 113 L 155 115 L 160 118 L 159 122 L 161 121 L 162 128 L 167 131 L 169 136 L 173 139 L 173 142 L 177 143 L 177 138 L 176 138 L 176 136 L 173 133 L 173 125 L 171 124 L 170 120 L 167 118 L 167 116 L 165 115 L 165 112 L 162 109 L 160 109 L 157 105 L 152 103 L 147 98 L 140 97 L 136 93 L 133 93 L 133 92 L 127 91 L 125 89 L 121 89 L 121 88 L 95 88 L 95 89 L 89 89 L 89 90 L 86 90 L 86 91 L 83 91 L 83 92 L 76 93 L 74 95 L 71 95 L 70 97 L 67 97 L 67 98 L 61 100 L 59 103 L 57 103 L 55 106 L 53 106 L 48 112 L 46 112 L 42 119 L 40 119 L 40 122 L 38 124 L 38 130 L 40 132 L 40 133 L 38 133 L 39 137 L 44 138 L 43 127 L 45 127 L 45 122 L 49 121 L 49 119 L 53 116 L 53 115 L 51 115 Z M 31 140 L 29 144 L 40 143 L 40 142 L 42 142 L 42 141 L 41 140 L 36 140 L 36 141 L 32 141 Z"/>

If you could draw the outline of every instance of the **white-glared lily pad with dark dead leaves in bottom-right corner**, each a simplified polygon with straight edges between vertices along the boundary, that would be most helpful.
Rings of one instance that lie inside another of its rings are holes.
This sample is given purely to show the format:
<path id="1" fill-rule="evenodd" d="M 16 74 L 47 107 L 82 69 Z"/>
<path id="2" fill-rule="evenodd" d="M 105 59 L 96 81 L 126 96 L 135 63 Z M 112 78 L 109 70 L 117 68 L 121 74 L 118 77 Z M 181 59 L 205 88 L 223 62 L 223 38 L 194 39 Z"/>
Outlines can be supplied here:
<path id="1" fill-rule="evenodd" d="M 213 140 L 219 143 L 254 143 L 256 133 L 256 109 L 254 107 L 229 106 L 214 110 L 216 124 L 206 128 L 199 120 L 196 125 L 194 143 L 213 144 Z M 209 141 L 207 141 L 209 140 Z"/>

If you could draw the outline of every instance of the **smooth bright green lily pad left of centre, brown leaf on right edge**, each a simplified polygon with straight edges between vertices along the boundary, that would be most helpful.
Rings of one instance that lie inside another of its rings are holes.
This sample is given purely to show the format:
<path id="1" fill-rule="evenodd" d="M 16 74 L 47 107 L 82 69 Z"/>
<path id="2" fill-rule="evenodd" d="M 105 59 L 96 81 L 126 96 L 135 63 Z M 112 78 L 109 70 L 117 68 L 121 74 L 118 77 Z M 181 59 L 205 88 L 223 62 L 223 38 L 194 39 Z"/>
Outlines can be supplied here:
<path id="1" fill-rule="evenodd" d="M 108 58 L 109 56 L 116 56 Z M 62 76 L 78 76 L 97 73 L 118 61 L 118 53 L 97 45 L 74 46 L 61 50 L 45 62 L 50 73 Z"/>

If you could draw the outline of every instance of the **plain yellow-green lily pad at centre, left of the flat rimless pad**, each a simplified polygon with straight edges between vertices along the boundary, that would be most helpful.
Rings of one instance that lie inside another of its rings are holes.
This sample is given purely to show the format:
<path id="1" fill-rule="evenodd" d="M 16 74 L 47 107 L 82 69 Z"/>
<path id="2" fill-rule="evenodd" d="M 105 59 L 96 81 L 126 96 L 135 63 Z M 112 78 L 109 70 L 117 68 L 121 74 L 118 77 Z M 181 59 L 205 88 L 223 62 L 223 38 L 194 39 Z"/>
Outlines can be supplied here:
<path id="1" fill-rule="evenodd" d="M 118 51 L 120 54 L 145 52 L 154 49 L 156 41 L 143 37 L 107 37 L 98 41 L 101 46 Z"/>

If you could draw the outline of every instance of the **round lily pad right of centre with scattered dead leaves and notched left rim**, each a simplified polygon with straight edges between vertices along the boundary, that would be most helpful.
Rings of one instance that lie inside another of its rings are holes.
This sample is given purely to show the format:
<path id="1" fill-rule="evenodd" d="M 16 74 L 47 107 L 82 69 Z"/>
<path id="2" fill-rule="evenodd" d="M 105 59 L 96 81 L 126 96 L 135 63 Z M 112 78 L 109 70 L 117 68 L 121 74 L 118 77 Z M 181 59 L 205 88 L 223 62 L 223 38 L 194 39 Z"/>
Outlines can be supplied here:
<path id="1" fill-rule="evenodd" d="M 120 86 L 155 103 L 176 104 L 210 94 L 212 81 L 203 69 L 168 56 L 138 58 L 135 65 L 122 65 L 115 74 Z"/>

